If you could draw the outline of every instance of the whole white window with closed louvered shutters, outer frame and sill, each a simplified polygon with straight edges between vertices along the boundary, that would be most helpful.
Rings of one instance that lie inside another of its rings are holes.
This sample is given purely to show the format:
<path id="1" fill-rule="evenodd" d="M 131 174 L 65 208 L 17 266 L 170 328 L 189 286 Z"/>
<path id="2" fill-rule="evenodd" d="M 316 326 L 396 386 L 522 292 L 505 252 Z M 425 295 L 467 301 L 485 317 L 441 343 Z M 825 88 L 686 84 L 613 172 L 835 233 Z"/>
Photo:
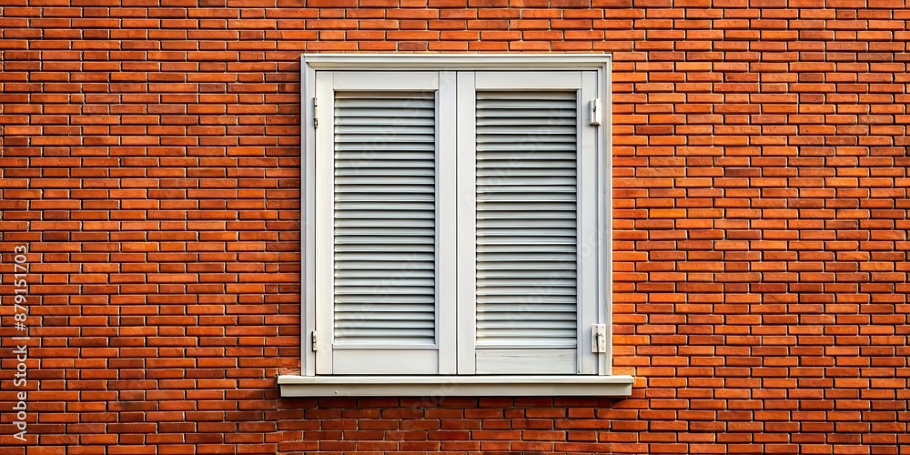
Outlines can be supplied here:
<path id="1" fill-rule="evenodd" d="M 608 58 L 304 57 L 306 336 L 283 393 L 630 389 Z"/>

